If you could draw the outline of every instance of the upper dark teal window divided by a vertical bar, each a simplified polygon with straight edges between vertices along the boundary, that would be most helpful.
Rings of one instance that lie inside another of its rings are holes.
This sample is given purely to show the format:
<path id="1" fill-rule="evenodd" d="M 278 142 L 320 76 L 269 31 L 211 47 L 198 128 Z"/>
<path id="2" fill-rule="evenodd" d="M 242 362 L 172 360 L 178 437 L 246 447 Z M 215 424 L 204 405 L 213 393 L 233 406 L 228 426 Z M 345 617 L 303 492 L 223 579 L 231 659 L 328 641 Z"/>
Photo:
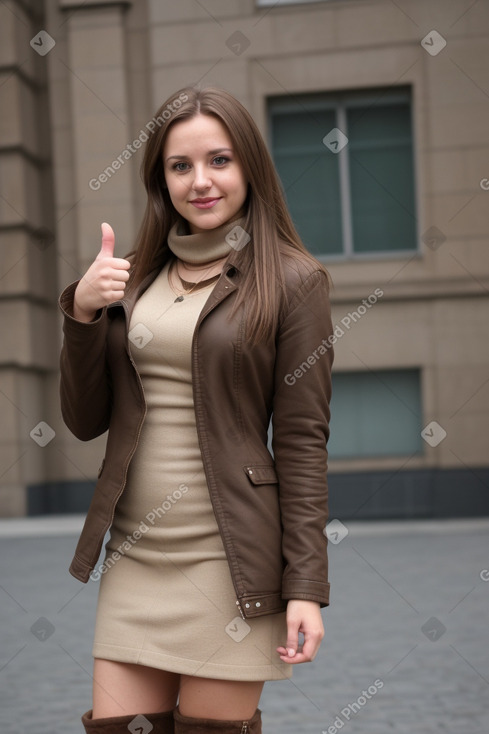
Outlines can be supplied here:
<path id="1" fill-rule="evenodd" d="M 316 257 L 416 250 L 409 89 L 274 97 L 269 120 L 294 224 Z"/>

